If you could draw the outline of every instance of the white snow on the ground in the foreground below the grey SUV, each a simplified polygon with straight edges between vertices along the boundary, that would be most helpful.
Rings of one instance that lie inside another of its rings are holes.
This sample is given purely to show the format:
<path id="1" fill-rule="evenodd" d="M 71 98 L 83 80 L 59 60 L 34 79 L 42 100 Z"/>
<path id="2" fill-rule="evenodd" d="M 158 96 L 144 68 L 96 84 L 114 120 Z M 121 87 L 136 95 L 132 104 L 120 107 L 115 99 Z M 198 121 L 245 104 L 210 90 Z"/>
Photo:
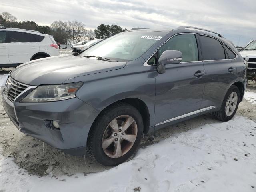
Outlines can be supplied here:
<path id="1" fill-rule="evenodd" d="M 0 191 L 255 192 L 255 139 L 256 123 L 235 116 L 172 135 L 110 170 L 58 178 L 28 175 L 0 155 Z"/>

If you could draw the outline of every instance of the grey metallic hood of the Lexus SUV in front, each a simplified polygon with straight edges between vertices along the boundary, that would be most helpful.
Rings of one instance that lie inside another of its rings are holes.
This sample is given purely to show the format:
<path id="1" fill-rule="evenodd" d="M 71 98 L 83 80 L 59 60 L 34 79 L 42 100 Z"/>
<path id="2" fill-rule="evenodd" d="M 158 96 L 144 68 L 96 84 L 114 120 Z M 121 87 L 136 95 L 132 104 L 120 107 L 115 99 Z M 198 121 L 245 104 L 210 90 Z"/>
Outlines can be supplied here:
<path id="1" fill-rule="evenodd" d="M 28 85 L 61 84 L 70 78 L 117 70 L 123 68 L 125 64 L 62 55 L 24 63 L 16 67 L 10 75 L 15 80 Z"/>

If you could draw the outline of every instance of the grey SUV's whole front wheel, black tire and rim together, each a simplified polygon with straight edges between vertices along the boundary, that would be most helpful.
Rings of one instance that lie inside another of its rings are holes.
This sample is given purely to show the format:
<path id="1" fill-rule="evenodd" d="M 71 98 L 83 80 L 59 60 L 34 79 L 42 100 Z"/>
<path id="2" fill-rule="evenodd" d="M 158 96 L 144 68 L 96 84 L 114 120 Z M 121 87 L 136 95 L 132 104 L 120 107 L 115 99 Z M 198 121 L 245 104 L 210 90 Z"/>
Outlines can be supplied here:
<path id="1" fill-rule="evenodd" d="M 132 123 L 130 124 L 130 122 Z M 125 124 L 127 126 L 130 124 L 130 126 L 126 129 Z M 87 151 L 100 164 L 115 166 L 134 154 L 142 134 L 143 120 L 140 112 L 130 104 L 118 102 L 104 110 L 96 118 L 88 135 Z M 126 140 L 129 136 L 132 138 L 132 142 Z M 106 142 L 109 140 L 111 140 L 111 144 Z M 118 153 L 120 152 L 118 146 L 121 147 L 121 153 Z"/>

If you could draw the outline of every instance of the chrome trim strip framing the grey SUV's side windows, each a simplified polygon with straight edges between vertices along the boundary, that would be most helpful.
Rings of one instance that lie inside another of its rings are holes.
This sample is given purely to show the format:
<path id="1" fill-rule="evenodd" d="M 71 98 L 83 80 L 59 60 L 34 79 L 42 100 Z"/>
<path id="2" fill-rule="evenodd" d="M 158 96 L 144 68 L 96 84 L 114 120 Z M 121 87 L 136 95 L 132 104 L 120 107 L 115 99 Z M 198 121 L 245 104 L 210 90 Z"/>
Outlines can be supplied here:
<path id="1" fill-rule="evenodd" d="M 200 34 L 200 33 L 178 33 L 178 34 L 175 34 L 173 36 L 171 36 L 170 38 L 168 38 L 168 40 L 170 40 L 172 37 L 174 36 L 177 36 L 177 35 L 181 35 L 181 34 L 197 34 L 197 35 L 203 35 L 203 36 L 207 36 L 207 37 L 211 37 L 211 38 L 214 38 L 218 41 L 220 41 L 219 39 L 215 38 L 215 37 L 212 37 L 210 35 L 205 35 L 205 34 Z M 168 41 L 166 40 L 144 63 L 143 63 L 143 66 L 154 66 L 154 65 L 149 65 L 148 64 L 148 60 L 150 60 L 150 58 Z M 221 41 L 222 42 L 222 41 Z M 224 42 L 222 42 L 225 46 L 227 46 Z M 232 50 L 229 46 L 227 46 L 230 50 Z M 234 54 L 236 54 L 233 50 L 232 52 Z M 235 60 L 236 58 L 238 58 L 238 55 L 236 54 L 236 57 L 234 59 L 220 59 L 220 60 L 202 60 L 202 61 L 188 61 L 188 62 L 203 62 L 203 61 L 222 61 L 222 60 Z M 188 63 L 188 62 L 180 62 L 180 63 Z"/>

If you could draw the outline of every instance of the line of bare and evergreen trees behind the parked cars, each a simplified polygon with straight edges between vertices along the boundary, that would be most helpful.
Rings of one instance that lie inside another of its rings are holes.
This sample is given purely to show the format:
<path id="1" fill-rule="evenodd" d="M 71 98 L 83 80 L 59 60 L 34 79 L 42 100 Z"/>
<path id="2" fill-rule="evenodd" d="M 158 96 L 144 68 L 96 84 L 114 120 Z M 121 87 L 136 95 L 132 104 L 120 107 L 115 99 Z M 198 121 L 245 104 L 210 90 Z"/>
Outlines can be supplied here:
<path id="1" fill-rule="evenodd" d="M 85 24 L 78 21 L 54 21 L 50 26 L 38 25 L 34 21 L 17 21 L 17 18 L 8 12 L 0 14 L 0 26 L 36 30 L 54 36 L 60 44 L 71 44 L 81 40 L 104 39 L 109 36 L 127 31 L 118 25 L 100 24 L 95 30 L 86 29 Z"/>

